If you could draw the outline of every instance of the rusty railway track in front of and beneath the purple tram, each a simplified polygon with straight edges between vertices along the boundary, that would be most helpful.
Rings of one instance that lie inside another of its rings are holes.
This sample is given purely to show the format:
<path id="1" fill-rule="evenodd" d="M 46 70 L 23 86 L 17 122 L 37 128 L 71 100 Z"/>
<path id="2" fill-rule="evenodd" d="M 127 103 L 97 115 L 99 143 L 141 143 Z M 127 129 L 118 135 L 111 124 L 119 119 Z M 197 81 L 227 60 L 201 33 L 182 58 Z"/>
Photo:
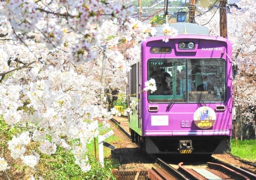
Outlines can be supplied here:
<path id="1" fill-rule="evenodd" d="M 118 121 L 112 119 L 112 122 L 118 125 L 118 128 L 130 138 L 130 133 Z M 155 159 L 157 159 L 158 166 L 148 170 L 150 180 L 256 180 L 256 174 L 250 170 L 232 166 L 216 158 L 212 158 L 212 162 L 200 166 L 184 165 L 183 162 L 180 162 L 177 169 L 160 158 Z"/>

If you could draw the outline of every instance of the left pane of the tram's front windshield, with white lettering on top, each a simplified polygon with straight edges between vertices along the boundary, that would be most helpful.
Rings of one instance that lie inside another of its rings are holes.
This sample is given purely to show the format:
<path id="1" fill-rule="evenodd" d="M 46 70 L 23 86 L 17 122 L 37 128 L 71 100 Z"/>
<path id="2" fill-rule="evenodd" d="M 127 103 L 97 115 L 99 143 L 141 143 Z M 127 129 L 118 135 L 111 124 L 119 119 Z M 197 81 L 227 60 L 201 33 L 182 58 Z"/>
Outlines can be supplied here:
<path id="1" fill-rule="evenodd" d="M 183 70 L 183 71 L 182 71 Z M 156 91 L 148 93 L 150 102 L 186 102 L 186 72 L 184 59 L 150 59 L 148 80 L 156 81 Z"/>

